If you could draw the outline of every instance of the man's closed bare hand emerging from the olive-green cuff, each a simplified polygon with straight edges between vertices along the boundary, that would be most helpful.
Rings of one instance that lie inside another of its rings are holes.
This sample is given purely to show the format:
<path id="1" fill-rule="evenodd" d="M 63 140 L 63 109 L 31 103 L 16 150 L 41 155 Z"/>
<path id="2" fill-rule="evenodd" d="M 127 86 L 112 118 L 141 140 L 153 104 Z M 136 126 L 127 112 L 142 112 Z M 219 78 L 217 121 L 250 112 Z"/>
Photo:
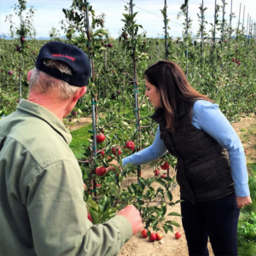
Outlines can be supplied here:
<path id="1" fill-rule="evenodd" d="M 117 215 L 122 215 L 128 219 L 131 224 L 132 236 L 143 229 L 143 219 L 136 207 L 129 205 L 118 212 Z"/>

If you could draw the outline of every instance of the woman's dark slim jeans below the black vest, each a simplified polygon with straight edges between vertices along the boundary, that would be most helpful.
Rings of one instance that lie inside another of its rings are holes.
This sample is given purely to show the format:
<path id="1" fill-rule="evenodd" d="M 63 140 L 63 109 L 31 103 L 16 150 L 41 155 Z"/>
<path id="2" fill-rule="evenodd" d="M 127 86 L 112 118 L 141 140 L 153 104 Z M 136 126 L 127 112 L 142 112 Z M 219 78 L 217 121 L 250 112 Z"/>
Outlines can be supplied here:
<path id="1" fill-rule="evenodd" d="M 189 255 L 209 255 L 208 237 L 213 253 L 217 256 L 237 255 L 237 224 L 240 209 L 236 195 L 212 201 L 199 201 L 195 205 L 181 197 L 183 229 Z"/>

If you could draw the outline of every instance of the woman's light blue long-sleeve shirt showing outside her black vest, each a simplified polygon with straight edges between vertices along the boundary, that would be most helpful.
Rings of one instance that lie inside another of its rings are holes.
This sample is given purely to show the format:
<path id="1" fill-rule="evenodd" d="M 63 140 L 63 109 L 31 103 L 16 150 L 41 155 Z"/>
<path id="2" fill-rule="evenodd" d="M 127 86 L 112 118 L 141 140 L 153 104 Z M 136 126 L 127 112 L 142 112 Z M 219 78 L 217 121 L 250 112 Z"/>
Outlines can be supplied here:
<path id="1" fill-rule="evenodd" d="M 235 183 L 236 196 L 245 197 L 250 195 L 248 187 L 247 163 L 244 148 L 228 119 L 219 110 L 218 104 L 199 100 L 195 102 L 192 111 L 192 125 L 206 131 L 223 148 L 226 148 L 230 156 L 230 167 Z M 143 165 L 152 160 L 158 159 L 166 153 L 166 146 L 160 139 L 160 129 L 157 128 L 154 143 L 148 148 L 131 154 L 123 159 L 123 165 Z"/>

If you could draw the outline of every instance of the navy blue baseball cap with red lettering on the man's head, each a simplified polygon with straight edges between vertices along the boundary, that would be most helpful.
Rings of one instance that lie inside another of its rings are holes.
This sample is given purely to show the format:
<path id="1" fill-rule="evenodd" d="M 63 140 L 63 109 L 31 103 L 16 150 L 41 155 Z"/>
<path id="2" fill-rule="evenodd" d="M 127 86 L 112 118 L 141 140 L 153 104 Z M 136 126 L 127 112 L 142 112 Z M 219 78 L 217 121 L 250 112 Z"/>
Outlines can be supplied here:
<path id="1" fill-rule="evenodd" d="M 73 70 L 73 75 L 61 73 L 58 69 L 44 65 L 45 59 L 62 61 L 67 63 Z M 61 42 L 49 42 L 40 49 L 36 62 L 38 70 L 49 74 L 55 79 L 61 79 L 68 84 L 75 86 L 85 86 L 90 78 L 90 60 L 84 51 L 73 44 Z"/>

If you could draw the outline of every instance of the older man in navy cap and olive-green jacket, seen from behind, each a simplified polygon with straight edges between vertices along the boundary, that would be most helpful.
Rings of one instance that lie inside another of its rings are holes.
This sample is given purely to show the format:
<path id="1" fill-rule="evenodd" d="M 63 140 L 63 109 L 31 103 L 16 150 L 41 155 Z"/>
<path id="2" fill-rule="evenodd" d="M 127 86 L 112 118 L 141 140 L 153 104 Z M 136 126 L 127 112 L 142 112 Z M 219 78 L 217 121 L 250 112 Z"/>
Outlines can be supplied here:
<path id="1" fill-rule="evenodd" d="M 142 229 L 126 207 L 93 225 L 71 135 L 62 123 L 86 91 L 90 61 L 60 42 L 40 49 L 29 96 L 0 121 L 0 255 L 116 255 Z"/>

